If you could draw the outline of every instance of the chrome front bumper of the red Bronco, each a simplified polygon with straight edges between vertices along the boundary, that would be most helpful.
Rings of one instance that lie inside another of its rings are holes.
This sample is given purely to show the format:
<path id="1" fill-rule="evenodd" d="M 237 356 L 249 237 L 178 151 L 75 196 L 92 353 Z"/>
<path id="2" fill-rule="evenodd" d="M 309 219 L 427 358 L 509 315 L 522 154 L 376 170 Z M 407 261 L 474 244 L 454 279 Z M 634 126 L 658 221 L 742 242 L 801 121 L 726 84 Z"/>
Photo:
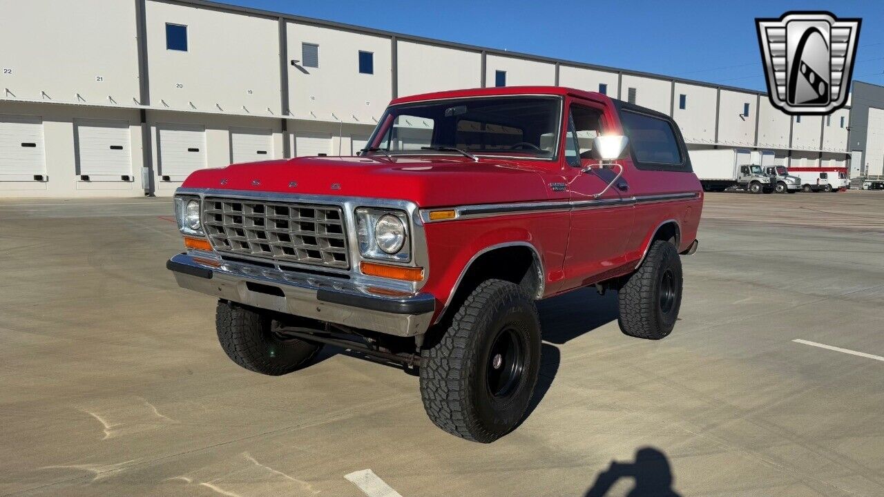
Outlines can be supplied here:
<path id="1" fill-rule="evenodd" d="M 371 287 L 348 279 L 278 271 L 191 254 L 172 257 L 166 268 L 175 274 L 179 287 L 202 294 L 397 336 L 426 332 L 436 309 L 436 299 L 431 294 L 384 296 L 372 294 Z"/>

